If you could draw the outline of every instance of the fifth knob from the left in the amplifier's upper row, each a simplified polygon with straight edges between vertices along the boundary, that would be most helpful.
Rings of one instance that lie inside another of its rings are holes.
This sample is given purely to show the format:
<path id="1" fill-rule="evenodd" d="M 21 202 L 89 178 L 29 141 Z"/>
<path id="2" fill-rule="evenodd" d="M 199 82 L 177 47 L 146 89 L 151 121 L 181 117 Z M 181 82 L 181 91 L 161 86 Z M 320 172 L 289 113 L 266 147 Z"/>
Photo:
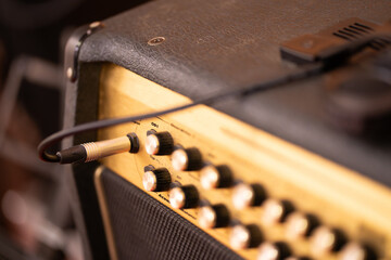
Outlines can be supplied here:
<path id="1" fill-rule="evenodd" d="M 278 200 L 274 198 L 268 198 L 265 200 L 262 207 L 262 222 L 265 225 L 273 225 L 279 222 L 283 222 L 286 217 L 293 211 L 293 206 L 290 202 Z"/>

